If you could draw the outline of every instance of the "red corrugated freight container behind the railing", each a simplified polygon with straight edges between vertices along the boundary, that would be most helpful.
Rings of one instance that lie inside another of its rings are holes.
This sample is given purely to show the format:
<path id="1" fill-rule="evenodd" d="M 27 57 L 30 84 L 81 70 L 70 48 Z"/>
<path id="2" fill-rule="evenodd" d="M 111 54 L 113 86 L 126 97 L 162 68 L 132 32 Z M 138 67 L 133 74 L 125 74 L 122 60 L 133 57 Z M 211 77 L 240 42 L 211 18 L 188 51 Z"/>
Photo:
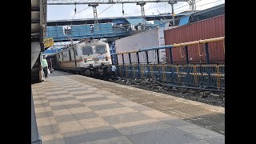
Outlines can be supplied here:
<path id="1" fill-rule="evenodd" d="M 181 42 L 193 42 L 200 39 L 218 38 L 225 36 L 225 14 L 208 18 L 202 21 L 179 26 L 174 29 L 164 30 L 166 45 Z M 225 52 L 223 42 L 210 42 L 209 43 L 209 56 L 210 63 L 225 63 Z M 172 57 L 174 64 L 186 63 L 186 56 L 182 58 L 180 48 L 172 49 Z M 188 59 L 189 63 L 206 63 L 206 50 L 204 45 L 200 45 L 200 56 L 198 45 L 188 46 Z M 166 58 L 170 63 L 170 52 L 166 50 Z"/>

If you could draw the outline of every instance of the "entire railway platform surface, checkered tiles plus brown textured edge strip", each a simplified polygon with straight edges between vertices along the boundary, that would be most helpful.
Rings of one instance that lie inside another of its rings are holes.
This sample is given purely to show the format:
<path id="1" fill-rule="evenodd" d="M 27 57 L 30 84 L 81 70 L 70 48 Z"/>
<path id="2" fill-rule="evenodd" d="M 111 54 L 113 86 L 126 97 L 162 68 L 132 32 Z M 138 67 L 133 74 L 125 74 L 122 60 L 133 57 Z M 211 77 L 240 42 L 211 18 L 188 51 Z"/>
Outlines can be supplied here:
<path id="1" fill-rule="evenodd" d="M 225 109 L 54 71 L 32 85 L 43 144 L 225 143 Z"/>

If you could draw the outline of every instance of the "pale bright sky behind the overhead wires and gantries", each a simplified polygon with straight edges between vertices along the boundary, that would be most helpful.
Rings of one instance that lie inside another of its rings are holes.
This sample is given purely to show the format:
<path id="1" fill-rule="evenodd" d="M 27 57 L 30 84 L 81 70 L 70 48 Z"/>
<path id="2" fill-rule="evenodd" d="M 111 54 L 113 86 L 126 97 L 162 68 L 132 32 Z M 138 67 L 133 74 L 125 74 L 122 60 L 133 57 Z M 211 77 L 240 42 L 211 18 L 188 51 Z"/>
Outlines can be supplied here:
<path id="1" fill-rule="evenodd" d="M 225 0 L 196 0 L 196 10 L 205 10 L 213 6 L 218 6 L 222 3 L 225 3 Z M 98 18 L 142 15 L 141 7 L 135 3 L 123 4 L 124 15 L 122 14 L 122 4 L 111 5 L 112 4 L 99 4 L 99 6 L 97 6 Z M 106 10 L 109 6 L 111 7 Z M 47 6 L 47 21 L 94 18 L 92 7 L 88 7 L 88 5 L 77 5 L 76 7 L 77 14 L 74 14 L 74 5 L 49 5 Z M 102 12 L 103 10 L 105 11 Z M 167 2 L 146 3 L 144 10 L 146 15 L 158 15 L 159 13 L 171 13 L 171 6 Z M 190 6 L 187 2 L 177 2 L 177 4 L 174 4 L 174 14 L 178 14 L 186 10 L 190 10 Z"/>

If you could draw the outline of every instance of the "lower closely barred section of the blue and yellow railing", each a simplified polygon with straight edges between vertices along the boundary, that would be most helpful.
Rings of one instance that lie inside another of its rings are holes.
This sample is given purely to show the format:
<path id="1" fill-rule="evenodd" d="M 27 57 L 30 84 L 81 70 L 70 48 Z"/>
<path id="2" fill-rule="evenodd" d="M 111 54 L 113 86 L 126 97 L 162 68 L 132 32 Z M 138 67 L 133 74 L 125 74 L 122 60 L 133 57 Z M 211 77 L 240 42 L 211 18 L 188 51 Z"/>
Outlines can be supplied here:
<path id="1" fill-rule="evenodd" d="M 186 86 L 225 88 L 225 65 L 117 65 L 123 78 L 153 78 Z"/>

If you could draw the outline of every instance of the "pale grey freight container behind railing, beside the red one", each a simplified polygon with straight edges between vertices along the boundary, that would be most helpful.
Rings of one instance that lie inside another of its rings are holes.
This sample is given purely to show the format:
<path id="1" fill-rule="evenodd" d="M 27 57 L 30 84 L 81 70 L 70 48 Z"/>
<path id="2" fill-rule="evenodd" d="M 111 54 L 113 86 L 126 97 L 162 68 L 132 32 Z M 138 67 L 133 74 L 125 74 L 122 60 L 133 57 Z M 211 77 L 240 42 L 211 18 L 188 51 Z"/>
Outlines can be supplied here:
<path id="1" fill-rule="evenodd" d="M 115 41 L 116 53 L 146 49 L 150 47 L 165 46 L 164 30 L 173 29 L 177 26 L 161 27 L 155 30 L 145 31 L 139 34 L 134 34 L 126 38 L 121 38 Z M 131 54 L 131 63 L 137 62 L 136 54 Z M 157 55 L 153 51 L 148 52 L 148 58 L 150 63 L 156 62 Z M 166 63 L 166 50 L 162 49 L 159 51 L 159 58 L 161 63 Z M 118 55 L 118 59 L 122 59 L 122 55 Z M 146 63 L 145 54 L 139 54 L 141 63 Z M 129 64 L 128 55 L 124 55 L 125 64 Z M 121 62 L 122 63 L 122 62 Z"/>

